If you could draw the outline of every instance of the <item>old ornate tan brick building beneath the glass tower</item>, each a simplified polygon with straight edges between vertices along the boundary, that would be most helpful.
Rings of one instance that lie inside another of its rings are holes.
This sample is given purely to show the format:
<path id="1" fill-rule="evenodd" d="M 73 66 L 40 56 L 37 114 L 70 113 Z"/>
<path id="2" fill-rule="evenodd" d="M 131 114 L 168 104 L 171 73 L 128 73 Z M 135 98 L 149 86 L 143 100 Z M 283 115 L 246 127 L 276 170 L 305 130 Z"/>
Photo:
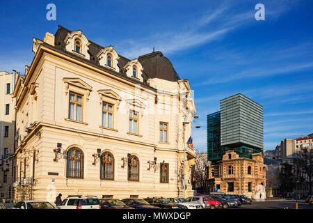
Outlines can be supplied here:
<path id="1" fill-rule="evenodd" d="M 209 167 L 209 190 L 217 188 L 218 192 L 259 198 L 256 196 L 259 194 L 257 185 L 266 186 L 266 170 L 262 153 L 254 153 L 250 159 L 239 157 L 234 151 L 226 151 L 223 160 Z"/>

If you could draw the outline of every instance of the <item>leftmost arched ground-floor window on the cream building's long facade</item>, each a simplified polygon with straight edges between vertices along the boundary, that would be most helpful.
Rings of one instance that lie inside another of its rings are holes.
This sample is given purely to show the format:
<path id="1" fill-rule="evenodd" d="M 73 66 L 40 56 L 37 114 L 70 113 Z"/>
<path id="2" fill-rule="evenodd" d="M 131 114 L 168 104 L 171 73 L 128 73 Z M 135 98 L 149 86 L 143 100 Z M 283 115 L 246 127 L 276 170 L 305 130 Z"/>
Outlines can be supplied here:
<path id="1" fill-rule="evenodd" d="M 83 178 L 83 152 L 79 148 L 67 151 L 67 178 Z"/>

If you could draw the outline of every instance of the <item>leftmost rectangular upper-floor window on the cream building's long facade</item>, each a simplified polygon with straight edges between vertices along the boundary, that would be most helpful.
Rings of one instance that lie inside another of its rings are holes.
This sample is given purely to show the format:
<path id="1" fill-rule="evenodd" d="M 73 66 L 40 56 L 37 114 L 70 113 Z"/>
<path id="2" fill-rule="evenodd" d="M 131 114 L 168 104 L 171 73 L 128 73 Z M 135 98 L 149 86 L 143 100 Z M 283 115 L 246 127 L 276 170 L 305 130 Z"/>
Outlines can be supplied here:
<path id="1" fill-rule="evenodd" d="M 82 121 L 83 117 L 83 95 L 70 92 L 68 118 L 76 121 Z"/>

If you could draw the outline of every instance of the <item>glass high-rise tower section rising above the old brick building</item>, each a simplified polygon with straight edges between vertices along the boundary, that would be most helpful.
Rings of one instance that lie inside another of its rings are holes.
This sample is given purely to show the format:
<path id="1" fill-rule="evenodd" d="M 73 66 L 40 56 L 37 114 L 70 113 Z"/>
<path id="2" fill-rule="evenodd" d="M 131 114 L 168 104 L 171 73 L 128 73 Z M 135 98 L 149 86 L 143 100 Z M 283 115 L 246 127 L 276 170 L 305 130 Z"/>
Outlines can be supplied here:
<path id="1" fill-rule="evenodd" d="M 220 100 L 220 112 L 207 116 L 208 160 L 230 150 L 247 158 L 263 153 L 263 107 L 241 93 Z"/>

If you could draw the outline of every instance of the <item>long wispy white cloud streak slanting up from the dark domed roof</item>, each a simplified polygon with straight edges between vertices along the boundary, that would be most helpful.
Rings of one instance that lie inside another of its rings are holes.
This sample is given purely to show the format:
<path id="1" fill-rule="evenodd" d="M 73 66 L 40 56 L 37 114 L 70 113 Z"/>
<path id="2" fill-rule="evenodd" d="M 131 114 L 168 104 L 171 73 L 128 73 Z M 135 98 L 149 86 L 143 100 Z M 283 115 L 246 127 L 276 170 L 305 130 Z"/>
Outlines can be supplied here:
<path id="1" fill-rule="evenodd" d="M 193 21 L 177 26 L 172 31 L 159 31 L 139 40 L 124 40 L 116 47 L 129 58 L 147 54 L 151 52 L 152 47 L 163 53 L 172 54 L 218 40 L 234 29 L 255 22 L 254 8 L 234 11 L 232 7 L 234 7 L 232 1 L 224 1 L 218 8 L 208 10 L 204 15 L 195 17 Z M 269 9 L 266 14 L 275 17 L 285 9 L 285 7 L 275 11 Z"/>

